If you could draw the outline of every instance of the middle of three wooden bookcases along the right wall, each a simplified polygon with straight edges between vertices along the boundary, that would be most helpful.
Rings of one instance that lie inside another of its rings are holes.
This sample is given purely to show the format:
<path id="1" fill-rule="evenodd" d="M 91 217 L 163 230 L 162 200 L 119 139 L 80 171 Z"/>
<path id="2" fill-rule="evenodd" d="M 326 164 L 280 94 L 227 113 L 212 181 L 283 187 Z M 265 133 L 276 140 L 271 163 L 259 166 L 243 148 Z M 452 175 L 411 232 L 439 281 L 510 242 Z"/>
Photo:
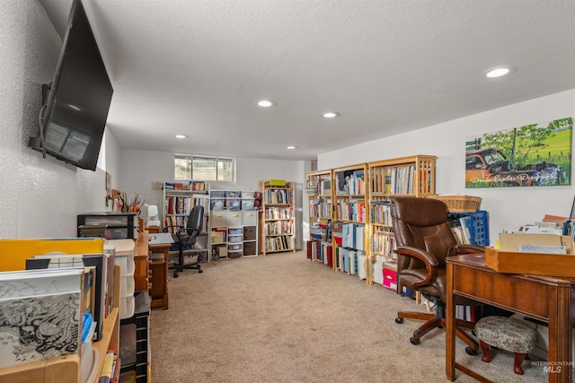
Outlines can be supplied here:
<path id="1" fill-rule="evenodd" d="M 361 279 L 367 279 L 367 174 L 367 163 L 332 171 L 332 227 L 337 227 L 339 231 L 341 226 L 341 241 L 335 235 L 332 240 L 334 266 L 341 272 L 358 275 Z"/>

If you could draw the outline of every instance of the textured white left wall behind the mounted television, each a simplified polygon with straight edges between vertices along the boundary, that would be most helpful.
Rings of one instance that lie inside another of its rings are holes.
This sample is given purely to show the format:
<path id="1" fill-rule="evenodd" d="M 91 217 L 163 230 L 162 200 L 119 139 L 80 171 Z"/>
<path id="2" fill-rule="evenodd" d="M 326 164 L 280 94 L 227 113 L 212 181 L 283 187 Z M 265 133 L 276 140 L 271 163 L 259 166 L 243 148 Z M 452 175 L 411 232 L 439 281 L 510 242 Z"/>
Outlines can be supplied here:
<path id="1" fill-rule="evenodd" d="M 104 209 L 102 170 L 27 146 L 39 132 L 41 84 L 53 80 L 61 47 L 37 1 L 0 2 L 0 238 L 75 237 L 77 214 Z"/>

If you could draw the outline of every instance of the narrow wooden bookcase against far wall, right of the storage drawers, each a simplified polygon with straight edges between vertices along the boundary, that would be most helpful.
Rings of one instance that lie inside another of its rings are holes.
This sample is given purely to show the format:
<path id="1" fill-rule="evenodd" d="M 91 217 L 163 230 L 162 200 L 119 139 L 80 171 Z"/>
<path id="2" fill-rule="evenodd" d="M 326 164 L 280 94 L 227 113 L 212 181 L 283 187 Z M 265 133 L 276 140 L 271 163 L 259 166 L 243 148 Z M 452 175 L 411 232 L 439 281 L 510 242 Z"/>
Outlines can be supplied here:
<path id="1" fill-rule="evenodd" d="M 261 253 L 296 251 L 294 182 L 260 181 Z"/>

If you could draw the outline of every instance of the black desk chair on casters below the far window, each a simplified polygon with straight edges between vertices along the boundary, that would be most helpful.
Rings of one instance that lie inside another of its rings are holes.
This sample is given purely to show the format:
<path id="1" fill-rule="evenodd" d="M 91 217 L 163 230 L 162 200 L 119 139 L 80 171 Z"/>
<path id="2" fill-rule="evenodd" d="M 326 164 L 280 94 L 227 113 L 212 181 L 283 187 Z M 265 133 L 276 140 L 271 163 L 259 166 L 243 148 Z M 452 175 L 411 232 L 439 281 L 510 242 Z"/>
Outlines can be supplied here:
<path id="1" fill-rule="evenodd" d="M 190 264 L 184 264 L 183 261 L 183 250 L 184 248 L 193 248 L 196 244 L 196 239 L 199 234 L 201 234 L 201 228 L 204 223 L 204 207 L 201 205 L 196 205 L 191 209 L 190 215 L 188 216 L 188 222 L 185 228 L 181 228 L 173 234 L 173 242 L 178 246 L 178 264 L 170 266 L 173 269 L 173 277 L 177 278 L 178 273 L 182 272 L 183 269 L 194 269 L 198 270 L 198 273 L 203 273 L 201 265 L 199 264 L 199 254 L 193 255 L 196 257 L 196 262 Z"/>

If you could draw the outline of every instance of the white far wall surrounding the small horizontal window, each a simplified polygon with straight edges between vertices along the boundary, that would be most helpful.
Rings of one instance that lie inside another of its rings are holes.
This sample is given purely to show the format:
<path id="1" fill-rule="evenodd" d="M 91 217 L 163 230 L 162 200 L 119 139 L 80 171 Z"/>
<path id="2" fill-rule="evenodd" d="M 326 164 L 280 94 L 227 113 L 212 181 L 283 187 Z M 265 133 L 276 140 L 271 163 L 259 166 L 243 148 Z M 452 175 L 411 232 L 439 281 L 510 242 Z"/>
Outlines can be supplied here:
<path id="1" fill-rule="evenodd" d="M 224 155 L 225 153 L 220 153 Z M 133 149 L 119 151 L 119 188 L 128 199 L 139 193 L 150 205 L 163 206 L 162 190 L 154 190 L 154 181 L 173 182 L 173 152 L 155 152 Z M 309 162 L 309 161 L 308 161 Z M 262 160 L 236 158 L 236 182 L 210 182 L 215 190 L 258 190 L 258 181 L 279 178 L 296 183 L 296 236 L 297 247 L 302 248 L 302 185 L 305 179 L 305 161 Z"/>

